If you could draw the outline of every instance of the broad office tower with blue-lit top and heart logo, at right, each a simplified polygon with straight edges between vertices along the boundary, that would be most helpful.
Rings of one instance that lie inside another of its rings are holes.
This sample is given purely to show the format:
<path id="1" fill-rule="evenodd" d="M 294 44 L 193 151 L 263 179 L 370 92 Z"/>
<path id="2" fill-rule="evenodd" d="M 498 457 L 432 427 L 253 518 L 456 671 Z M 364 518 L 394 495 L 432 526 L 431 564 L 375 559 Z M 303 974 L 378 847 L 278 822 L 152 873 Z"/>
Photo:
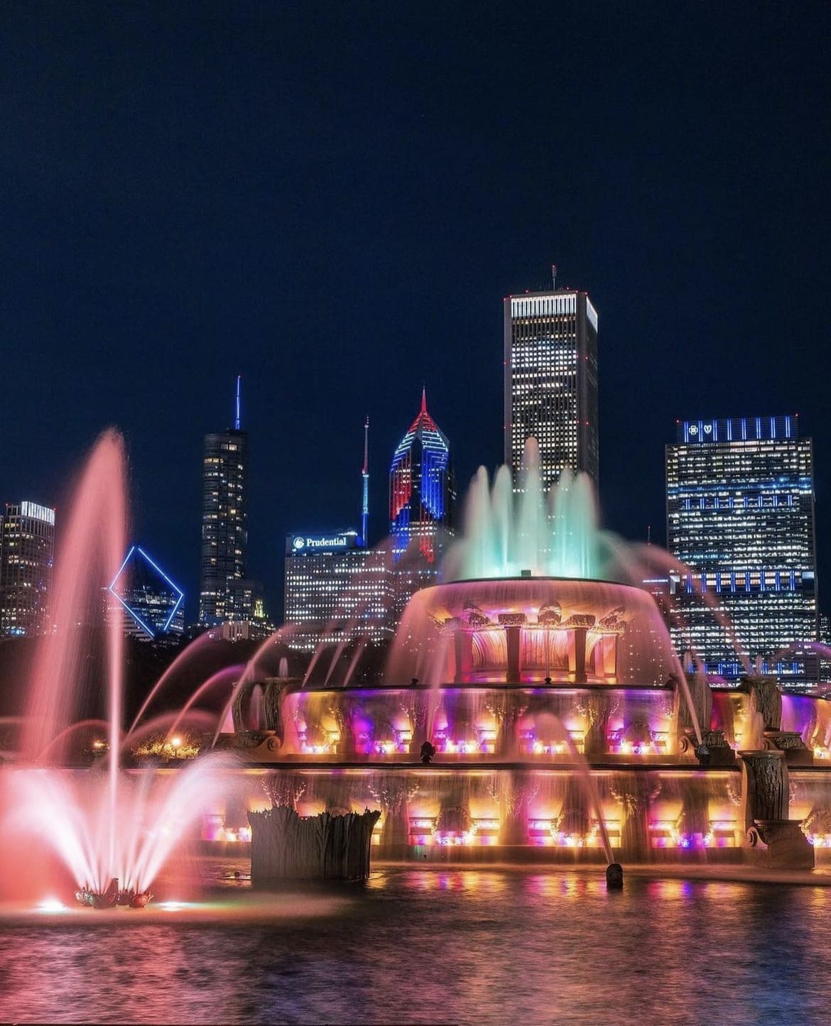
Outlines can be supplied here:
<path id="1" fill-rule="evenodd" d="M 668 548 L 691 571 L 673 582 L 678 650 L 729 679 L 737 647 L 763 669 L 816 640 L 814 461 L 796 418 L 680 422 L 666 471 Z"/>

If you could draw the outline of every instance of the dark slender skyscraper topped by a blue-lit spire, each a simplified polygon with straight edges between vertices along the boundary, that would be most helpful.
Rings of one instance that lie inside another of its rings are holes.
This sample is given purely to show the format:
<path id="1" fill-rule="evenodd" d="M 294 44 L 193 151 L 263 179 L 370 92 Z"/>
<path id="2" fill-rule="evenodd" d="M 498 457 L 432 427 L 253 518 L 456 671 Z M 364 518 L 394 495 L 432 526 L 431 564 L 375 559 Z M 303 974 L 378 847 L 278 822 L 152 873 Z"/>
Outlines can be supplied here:
<path id="1" fill-rule="evenodd" d="M 237 378 L 234 427 L 205 435 L 202 460 L 199 623 L 207 627 L 248 620 L 252 615 L 245 607 L 249 590 L 240 586 L 245 580 L 248 543 L 245 508 L 248 435 L 241 423 Z"/>

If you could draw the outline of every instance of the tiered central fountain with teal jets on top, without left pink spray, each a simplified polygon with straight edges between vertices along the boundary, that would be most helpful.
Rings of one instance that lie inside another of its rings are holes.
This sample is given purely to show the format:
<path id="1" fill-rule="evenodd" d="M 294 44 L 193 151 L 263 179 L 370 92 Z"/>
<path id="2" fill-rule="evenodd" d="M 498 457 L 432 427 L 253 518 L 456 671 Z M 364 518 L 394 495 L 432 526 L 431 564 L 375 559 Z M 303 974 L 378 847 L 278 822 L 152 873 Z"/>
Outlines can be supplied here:
<path id="1" fill-rule="evenodd" d="M 255 685 L 271 712 L 249 779 L 273 806 L 377 808 L 373 852 L 427 862 L 804 868 L 831 843 L 829 703 L 789 704 L 783 729 L 769 681 L 688 675 L 647 566 L 597 528 L 581 475 L 546 497 L 532 445 L 516 496 L 507 469 L 492 485 L 480 470 L 443 570 L 383 685 L 249 668 L 235 720 Z"/>

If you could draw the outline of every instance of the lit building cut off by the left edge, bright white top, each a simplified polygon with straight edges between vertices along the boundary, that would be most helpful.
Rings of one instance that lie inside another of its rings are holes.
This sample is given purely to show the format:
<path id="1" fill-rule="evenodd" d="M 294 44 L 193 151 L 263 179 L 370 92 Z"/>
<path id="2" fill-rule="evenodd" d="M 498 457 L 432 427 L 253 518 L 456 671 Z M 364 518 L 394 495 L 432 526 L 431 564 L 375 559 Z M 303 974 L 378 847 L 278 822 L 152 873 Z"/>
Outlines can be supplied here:
<path id="1" fill-rule="evenodd" d="M 0 637 L 49 631 L 54 510 L 7 503 L 0 517 Z"/>

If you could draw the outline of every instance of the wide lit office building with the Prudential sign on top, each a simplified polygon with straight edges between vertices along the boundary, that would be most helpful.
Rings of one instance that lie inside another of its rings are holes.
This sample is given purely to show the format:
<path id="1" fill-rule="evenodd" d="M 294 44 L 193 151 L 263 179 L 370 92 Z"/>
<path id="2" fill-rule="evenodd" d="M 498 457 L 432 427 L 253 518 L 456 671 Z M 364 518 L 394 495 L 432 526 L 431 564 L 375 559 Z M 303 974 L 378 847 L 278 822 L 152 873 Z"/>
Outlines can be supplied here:
<path id="1" fill-rule="evenodd" d="M 284 622 L 290 647 L 312 652 L 320 642 L 392 638 L 389 558 L 359 543 L 354 530 L 287 536 Z"/>

